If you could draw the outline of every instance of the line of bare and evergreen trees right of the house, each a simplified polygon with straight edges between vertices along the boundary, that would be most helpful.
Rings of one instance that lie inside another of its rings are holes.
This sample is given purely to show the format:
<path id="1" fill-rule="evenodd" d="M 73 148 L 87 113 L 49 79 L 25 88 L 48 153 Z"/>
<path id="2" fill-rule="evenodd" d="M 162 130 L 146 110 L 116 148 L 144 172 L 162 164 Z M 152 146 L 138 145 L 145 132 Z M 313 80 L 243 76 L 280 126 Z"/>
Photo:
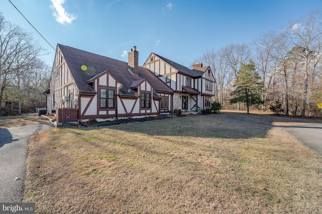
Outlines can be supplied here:
<path id="1" fill-rule="evenodd" d="M 223 107 L 240 109 L 245 105 L 285 115 L 317 117 L 322 116 L 318 107 L 322 103 L 321 52 L 322 14 L 314 10 L 290 21 L 279 33 L 263 34 L 252 44 L 230 44 L 207 51 L 195 62 L 211 67 L 216 79 L 215 101 Z M 247 105 L 245 88 L 240 94 L 245 72 L 248 78 L 255 78 L 253 86 L 257 85 L 253 88 L 254 102 Z"/>

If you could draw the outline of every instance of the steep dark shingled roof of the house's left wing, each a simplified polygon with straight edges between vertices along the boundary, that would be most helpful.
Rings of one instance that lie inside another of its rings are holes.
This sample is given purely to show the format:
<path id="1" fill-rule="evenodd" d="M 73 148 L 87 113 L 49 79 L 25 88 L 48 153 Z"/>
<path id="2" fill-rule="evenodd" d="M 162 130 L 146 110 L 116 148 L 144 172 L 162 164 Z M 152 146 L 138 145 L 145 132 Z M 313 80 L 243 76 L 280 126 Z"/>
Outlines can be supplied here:
<path id="1" fill-rule="evenodd" d="M 155 90 L 170 93 L 173 92 L 169 86 L 159 80 L 153 75 L 153 73 L 151 73 L 151 71 L 146 68 L 139 67 L 139 75 L 133 76 L 130 72 L 128 72 L 128 64 L 126 62 L 71 48 L 61 44 L 58 44 L 58 47 L 61 50 L 61 53 L 79 91 L 95 92 L 87 81 L 105 71 L 108 71 L 117 79 L 117 81 L 122 84 L 120 94 L 134 95 L 135 92 L 133 90 L 129 90 L 132 83 L 135 81 L 141 81 L 144 78 L 152 84 L 152 87 Z"/>

